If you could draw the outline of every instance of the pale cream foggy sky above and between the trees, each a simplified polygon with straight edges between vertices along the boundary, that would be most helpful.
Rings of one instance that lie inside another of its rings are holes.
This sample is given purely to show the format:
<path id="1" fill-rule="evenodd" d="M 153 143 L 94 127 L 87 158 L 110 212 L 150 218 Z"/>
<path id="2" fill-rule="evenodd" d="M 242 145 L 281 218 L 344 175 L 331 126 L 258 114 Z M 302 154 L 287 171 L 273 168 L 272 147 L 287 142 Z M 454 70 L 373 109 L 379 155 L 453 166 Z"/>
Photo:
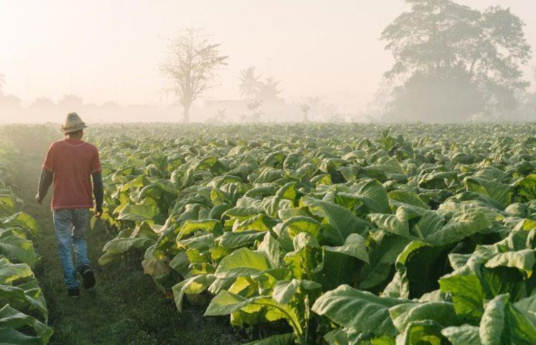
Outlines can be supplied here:
<path id="1" fill-rule="evenodd" d="M 536 2 L 456 2 L 510 6 L 536 48 Z M 239 71 L 257 66 L 281 79 L 286 100 L 319 95 L 359 110 L 392 64 L 379 35 L 406 9 L 402 0 L 0 0 L 0 73 L 4 93 L 23 102 L 58 100 L 72 89 L 86 103 L 168 104 L 158 69 L 163 36 L 195 26 L 229 55 L 208 96 L 238 99 Z M 533 82 L 530 73 L 526 79 Z"/>

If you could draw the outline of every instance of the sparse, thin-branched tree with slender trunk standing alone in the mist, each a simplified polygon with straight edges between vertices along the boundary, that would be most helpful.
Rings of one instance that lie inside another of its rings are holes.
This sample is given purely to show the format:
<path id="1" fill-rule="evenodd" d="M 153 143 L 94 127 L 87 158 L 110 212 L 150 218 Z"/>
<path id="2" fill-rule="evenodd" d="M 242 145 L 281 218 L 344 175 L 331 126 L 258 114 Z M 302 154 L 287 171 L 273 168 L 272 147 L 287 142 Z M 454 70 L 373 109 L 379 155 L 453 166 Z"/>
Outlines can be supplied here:
<path id="1" fill-rule="evenodd" d="M 220 43 L 210 43 L 202 29 L 186 28 L 169 39 L 168 58 L 161 70 L 174 83 L 172 88 L 184 109 L 183 121 L 188 123 L 192 102 L 213 87 L 218 69 L 227 65 L 221 55 Z"/>

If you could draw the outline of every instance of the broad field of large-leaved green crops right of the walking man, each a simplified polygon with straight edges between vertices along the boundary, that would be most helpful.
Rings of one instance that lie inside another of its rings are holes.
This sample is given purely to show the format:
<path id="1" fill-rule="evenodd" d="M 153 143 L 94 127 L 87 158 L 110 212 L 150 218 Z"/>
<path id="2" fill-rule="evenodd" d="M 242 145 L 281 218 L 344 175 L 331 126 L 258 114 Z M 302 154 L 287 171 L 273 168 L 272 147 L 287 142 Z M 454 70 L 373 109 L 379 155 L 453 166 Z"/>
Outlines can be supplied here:
<path id="1" fill-rule="evenodd" d="M 536 125 L 101 129 L 101 264 L 259 344 L 536 343 Z M 260 327 L 259 327 L 260 325 Z"/>

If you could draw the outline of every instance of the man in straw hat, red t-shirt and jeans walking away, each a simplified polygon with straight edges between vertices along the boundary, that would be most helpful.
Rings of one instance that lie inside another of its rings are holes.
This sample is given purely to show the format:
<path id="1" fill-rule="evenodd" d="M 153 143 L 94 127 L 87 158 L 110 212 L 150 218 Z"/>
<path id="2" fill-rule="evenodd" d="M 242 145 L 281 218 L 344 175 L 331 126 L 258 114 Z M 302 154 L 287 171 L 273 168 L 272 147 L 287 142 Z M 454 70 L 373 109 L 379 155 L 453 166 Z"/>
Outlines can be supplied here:
<path id="1" fill-rule="evenodd" d="M 35 199 L 39 204 L 46 196 L 54 181 L 52 211 L 58 245 L 59 260 L 63 267 L 63 277 L 68 295 L 80 295 L 77 271 L 83 279 L 86 290 L 96 288 L 95 276 L 87 257 L 84 237 L 89 226 L 89 209 L 93 207 L 95 196 L 95 217 L 102 214 L 103 186 L 98 149 L 82 139 L 86 124 L 76 112 L 70 112 L 62 126 L 65 139 L 53 142 L 43 163 L 39 191 Z M 76 266 L 73 265 L 71 250 L 74 249 Z"/>

